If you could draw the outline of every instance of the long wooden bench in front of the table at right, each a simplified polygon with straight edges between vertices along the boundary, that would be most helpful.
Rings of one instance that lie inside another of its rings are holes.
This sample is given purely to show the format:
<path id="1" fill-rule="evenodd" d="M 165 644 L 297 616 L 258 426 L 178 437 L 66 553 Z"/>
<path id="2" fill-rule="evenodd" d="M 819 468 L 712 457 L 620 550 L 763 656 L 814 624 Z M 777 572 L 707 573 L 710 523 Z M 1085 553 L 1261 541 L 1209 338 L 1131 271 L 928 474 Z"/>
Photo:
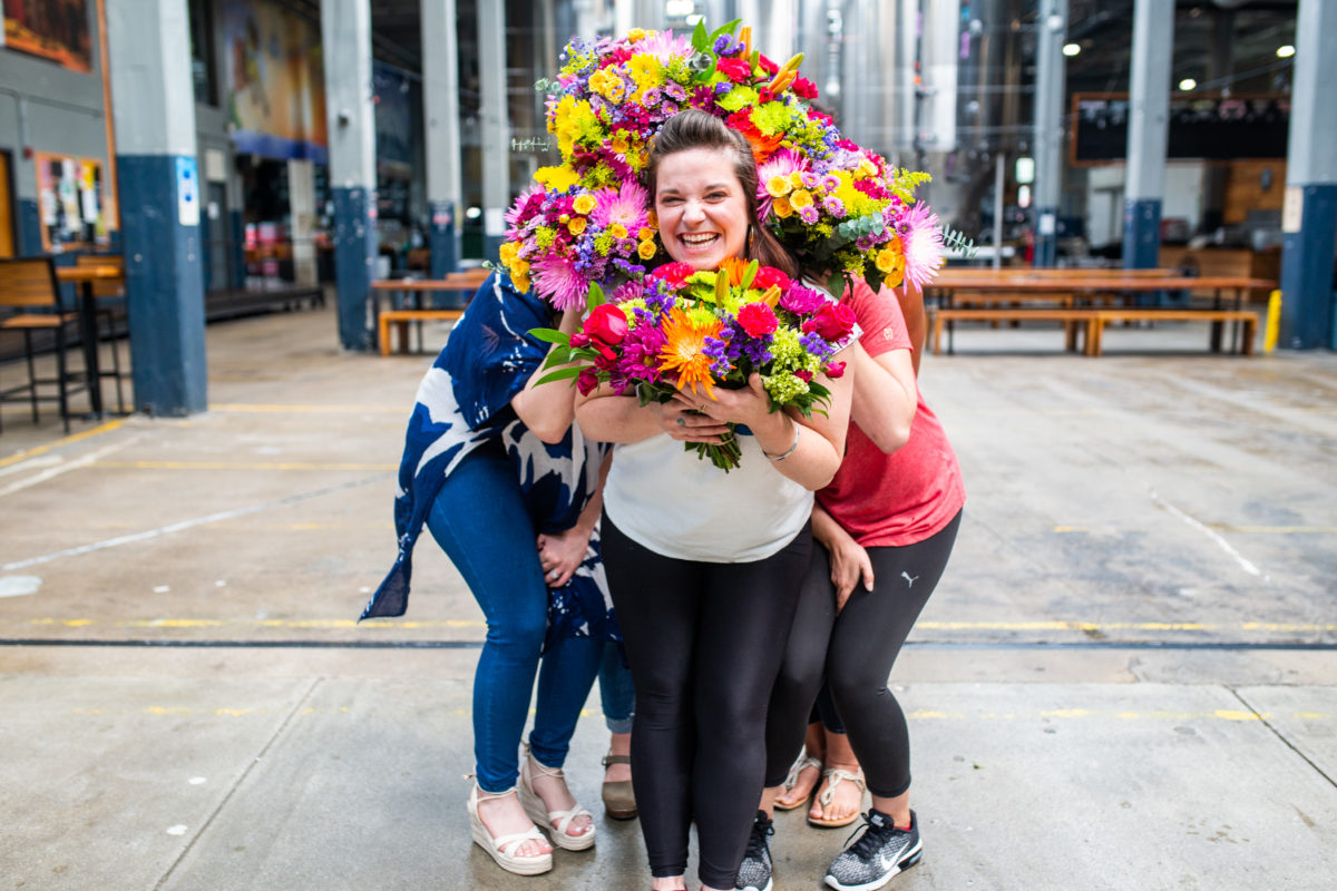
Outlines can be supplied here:
<path id="1" fill-rule="evenodd" d="M 944 322 L 1063 322 L 1068 351 L 1078 349 L 1078 330 L 1086 327 L 1086 343 L 1083 353 L 1098 357 L 1102 353 L 1102 334 L 1108 322 L 1211 322 L 1211 350 L 1221 350 L 1221 326 L 1225 322 L 1238 322 L 1243 327 L 1243 337 L 1239 342 L 1239 351 L 1243 355 L 1253 355 L 1254 333 L 1258 329 L 1258 314 L 1253 310 L 1225 310 L 1225 309 L 963 309 L 939 307 L 929 310 L 932 325 L 933 355 L 943 353 L 943 323 Z"/>

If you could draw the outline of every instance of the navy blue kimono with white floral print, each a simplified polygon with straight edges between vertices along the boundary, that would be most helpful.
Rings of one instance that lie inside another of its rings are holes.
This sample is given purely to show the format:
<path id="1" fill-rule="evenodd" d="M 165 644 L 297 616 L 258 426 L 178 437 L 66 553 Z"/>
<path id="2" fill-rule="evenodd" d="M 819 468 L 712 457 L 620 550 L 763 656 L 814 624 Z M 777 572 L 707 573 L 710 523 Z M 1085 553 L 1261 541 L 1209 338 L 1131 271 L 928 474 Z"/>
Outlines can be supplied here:
<path id="1" fill-rule="evenodd" d="M 574 423 L 562 442 L 548 445 L 511 407 L 511 398 L 548 354 L 548 343 L 531 337 L 529 330 L 551 326 L 541 299 L 520 294 L 509 278 L 492 274 L 451 331 L 445 349 L 418 385 L 404 437 L 394 496 L 400 553 L 362 618 L 404 614 L 413 545 L 432 502 L 460 461 L 485 442 L 499 441 L 513 462 L 516 485 L 536 532 L 576 525 L 599 488 L 599 466 L 610 446 L 586 439 Z M 599 557 L 598 528 L 571 581 L 548 590 L 547 645 L 563 637 L 620 640 Z"/>

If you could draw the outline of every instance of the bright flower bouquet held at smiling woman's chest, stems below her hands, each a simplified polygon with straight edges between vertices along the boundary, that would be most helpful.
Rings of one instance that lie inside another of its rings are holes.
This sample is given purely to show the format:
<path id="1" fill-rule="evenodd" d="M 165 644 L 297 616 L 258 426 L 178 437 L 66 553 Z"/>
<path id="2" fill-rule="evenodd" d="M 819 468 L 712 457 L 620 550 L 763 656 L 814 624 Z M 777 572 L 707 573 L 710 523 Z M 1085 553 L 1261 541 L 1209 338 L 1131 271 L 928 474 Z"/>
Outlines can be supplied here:
<path id="1" fill-rule="evenodd" d="M 755 260 L 726 260 L 717 271 L 668 263 L 627 290 L 636 293 L 611 303 L 591 286 L 588 315 L 575 334 L 531 331 L 558 345 L 544 367 L 575 363 L 540 382 L 575 378 L 582 394 L 607 383 L 647 405 L 687 389 L 714 398 L 715 386 L 745 387 L 757 373 L 771 411 L 793 406 L 812 417 L 830 397 L 817 375 L 845 373 L 845 363 L 832 359 L 850 339 L 853 310 L 777 269 Z M 685 445 L 725 472 L 738 466 L 733 426 L 718 445 Z"/>

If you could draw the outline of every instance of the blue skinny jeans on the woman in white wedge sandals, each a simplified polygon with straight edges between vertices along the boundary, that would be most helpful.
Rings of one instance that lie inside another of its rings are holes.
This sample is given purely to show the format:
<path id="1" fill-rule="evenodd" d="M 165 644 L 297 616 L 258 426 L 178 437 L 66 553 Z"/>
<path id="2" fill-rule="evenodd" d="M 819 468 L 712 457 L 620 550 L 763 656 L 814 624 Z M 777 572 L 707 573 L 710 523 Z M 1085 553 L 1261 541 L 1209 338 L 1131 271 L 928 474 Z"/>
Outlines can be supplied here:
<path id="1" fill-rule="evenodd" d="M 580 709 L 604 656 L 604 643 L 568 637 L 539 656 L 548 625 L 548 586 L 539 533 L 511 461 L 483 446 L 447 477 L 428 529 L 455 562 L 487 617 L 473 675 L 473 759 L 479 787 L 504 792 L 519 776 L 520 735 L 539 675 L 529 747 L 545 767 L 566 761 Z"/>

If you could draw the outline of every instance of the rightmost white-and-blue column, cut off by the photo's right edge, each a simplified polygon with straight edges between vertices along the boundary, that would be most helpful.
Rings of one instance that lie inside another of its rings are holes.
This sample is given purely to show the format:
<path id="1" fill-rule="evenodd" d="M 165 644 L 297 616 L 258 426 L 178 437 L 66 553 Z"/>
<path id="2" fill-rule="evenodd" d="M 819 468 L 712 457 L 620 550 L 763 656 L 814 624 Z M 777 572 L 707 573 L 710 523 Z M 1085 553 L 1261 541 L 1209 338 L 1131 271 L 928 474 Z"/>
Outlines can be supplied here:
<path id="1" fill-rule="evenodd" d="M 1281 211 L 1281 338 L 1298 350 L 1337 347 L 1333 240 L 1337 236 L 1337 5 L 1300 0 L 1290 92 L 1286 202 Z"/>

